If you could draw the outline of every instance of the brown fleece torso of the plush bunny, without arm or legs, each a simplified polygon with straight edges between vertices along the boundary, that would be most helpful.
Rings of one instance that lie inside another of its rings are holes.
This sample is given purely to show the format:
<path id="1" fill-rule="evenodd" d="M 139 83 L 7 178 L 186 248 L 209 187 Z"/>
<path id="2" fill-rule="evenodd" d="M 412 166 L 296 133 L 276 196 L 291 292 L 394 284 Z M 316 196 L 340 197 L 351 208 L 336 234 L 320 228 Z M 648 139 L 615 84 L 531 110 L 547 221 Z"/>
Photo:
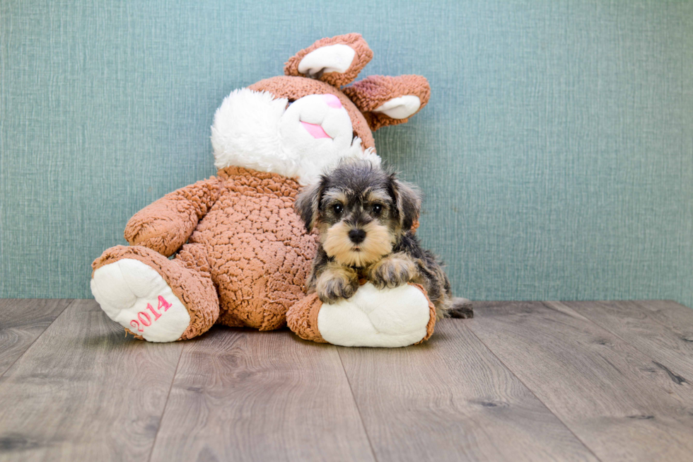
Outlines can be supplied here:
<path id="1" fill-rule="evenodd" d="M 272 330 L 303 298 L 317 244 L 293 213 L 298 183 L 240 167 L 219 171 L 224 191 L 190 236 L 204 243 L 221 323 Z"/>

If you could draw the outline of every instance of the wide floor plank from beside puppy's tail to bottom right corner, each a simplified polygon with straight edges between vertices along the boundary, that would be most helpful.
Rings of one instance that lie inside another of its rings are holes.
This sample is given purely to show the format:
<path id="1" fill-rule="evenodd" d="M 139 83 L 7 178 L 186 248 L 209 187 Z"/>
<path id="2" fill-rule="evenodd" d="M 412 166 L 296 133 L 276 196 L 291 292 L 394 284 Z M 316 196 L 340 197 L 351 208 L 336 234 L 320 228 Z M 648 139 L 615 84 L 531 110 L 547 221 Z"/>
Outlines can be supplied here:
<path id="1" fill-rule="evenodd" d="M 693 454 L 693 390 L 571 308 L 478 302 L 469 328 L 602 460 Z"/>

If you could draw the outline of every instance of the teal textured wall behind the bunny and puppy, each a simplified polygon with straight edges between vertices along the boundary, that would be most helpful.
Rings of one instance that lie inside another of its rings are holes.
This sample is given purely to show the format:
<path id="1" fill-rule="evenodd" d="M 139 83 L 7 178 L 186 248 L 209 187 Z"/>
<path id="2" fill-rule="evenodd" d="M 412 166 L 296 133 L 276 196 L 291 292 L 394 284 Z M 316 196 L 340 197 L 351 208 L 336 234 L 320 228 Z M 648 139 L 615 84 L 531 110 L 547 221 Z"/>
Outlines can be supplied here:
<path id="1" fill-rule="evenodd" d="M 129 216 L 214 174 L 233 88 L 320 37 L 431 102 L 376 133 L 472 299 L 693 306 L 693 3 L 2 1 L 0 296 L 88 297 Z"/>

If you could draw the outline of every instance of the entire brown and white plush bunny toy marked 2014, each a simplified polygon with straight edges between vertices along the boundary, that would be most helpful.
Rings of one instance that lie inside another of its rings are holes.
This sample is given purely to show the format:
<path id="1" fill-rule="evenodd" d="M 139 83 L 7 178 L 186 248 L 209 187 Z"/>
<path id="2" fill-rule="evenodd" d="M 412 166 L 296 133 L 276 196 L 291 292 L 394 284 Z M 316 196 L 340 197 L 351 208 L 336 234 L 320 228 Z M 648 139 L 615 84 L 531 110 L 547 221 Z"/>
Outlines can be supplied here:
<path id="1" fill-rule="evenodd" d="M 426 340 L 435 310 L 423 289 L 363 285 L 322 305 L 303 282 L 316 250 L 293 211 L 300 185 L 340 159 L 379 163 L 371 130 L 407 122 L 429 100 L 421 76 L 370 76 L 373 52 L 359 34 L 315 42 L 286 62 L 285 76 L 233 91 L 211 127 L 216 176 L 137 212 L 124 236 L 93 262 L 103 311 L 150 342 L 185 340 L 215 323 L 349 346 Z M 169 259 L 171 255 L 175 258 Z"/>

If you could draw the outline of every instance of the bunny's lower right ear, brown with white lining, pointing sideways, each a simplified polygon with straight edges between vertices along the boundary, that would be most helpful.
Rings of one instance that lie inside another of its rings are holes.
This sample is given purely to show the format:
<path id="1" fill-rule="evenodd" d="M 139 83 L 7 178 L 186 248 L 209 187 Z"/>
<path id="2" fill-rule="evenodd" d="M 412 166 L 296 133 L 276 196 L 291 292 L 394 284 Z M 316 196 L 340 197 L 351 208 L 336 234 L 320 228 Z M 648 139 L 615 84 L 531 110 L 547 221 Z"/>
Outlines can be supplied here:
<path id="1" fill-rule="evenodd" d="M 431 98 L 429 81 L 422 76 L 369 76 L 343 91 L 373 131 L 409 122 Z"/>

